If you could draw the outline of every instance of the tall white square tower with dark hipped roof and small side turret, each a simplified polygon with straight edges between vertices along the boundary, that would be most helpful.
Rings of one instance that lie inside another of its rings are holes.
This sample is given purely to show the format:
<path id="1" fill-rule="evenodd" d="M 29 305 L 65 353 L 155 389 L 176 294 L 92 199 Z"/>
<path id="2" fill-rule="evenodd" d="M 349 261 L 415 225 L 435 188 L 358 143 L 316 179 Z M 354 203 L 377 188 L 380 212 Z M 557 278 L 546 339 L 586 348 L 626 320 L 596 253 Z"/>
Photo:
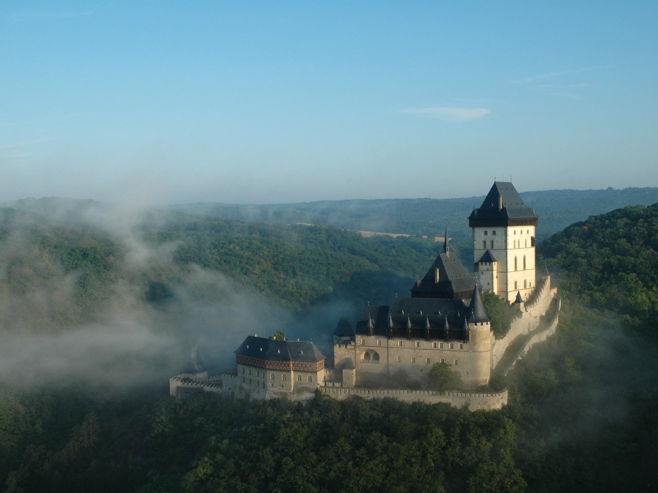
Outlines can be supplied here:
<path id="1" fill-rule="evenodd" d="M 528 299 L 536 285 L 535 235 L 538 216 L 510 181 L 495 181 L 468 217 L 473 229 L 474 271 L 483 289 L 513 302 Z"/>

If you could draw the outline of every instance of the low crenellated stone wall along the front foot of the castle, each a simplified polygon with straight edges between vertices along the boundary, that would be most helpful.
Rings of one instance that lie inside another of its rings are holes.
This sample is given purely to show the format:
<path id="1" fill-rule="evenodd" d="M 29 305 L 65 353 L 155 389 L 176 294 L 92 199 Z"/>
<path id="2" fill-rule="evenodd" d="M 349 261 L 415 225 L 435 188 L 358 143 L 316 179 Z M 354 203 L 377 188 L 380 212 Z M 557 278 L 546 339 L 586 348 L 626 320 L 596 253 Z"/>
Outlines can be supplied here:
<path id="1" fill-rule="evenodd" d="M 320 387 L 323 395 L 336 400 L 345 400 L 349 396 L 364 399 L 382 399 L 390 397 L 405 402 L 426 402 L 438 404 L 445 402 L 457 408 L 468 406 L 471 411 L 479 409 L 497 410 L 507 404 L 507 390 L 502 392 L 438 392 L 437 390 L 410 390 L 403 388 L 360 388 L 360 387 Z"/>

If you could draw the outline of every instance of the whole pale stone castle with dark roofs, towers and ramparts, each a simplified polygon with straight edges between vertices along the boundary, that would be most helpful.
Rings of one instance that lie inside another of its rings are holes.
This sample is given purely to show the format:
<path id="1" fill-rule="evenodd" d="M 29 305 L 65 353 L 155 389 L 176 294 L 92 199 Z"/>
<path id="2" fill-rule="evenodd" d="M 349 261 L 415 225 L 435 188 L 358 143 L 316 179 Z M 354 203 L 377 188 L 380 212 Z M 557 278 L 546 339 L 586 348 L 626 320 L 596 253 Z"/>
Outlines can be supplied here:
<path id="1" fill-rule="evenodd" d="M 368 306 L 354 325 L 339 321 L 333 361 L 312 342 L 249 336 L 236 350 L 236 369 L 215 379 L 202 373 L 178 375 L 170 379 L 171 394 L 205 390 L 236 398 L 305 400 L 319 388 L 334 398 L 388 395 L 499 408 L 507 402 L 506 391 L 482 394 L 476 389 L 488 384 L 512 340 L 526 337 L 523 350 L 555 331 L 557 314 L 547 327 L 540 327 L 540 317 L 557 299 L 557 290 L 551 289 L 548 277 L 536 279 L 538 216 L 512 183 L 493 183 L 468 222 L 473 230 L 474 275 L 451 251 L 446 227 L 443 251 L 413 285 L 411 297 L 396 298 L 389 306 Z M 481 290 L 492 291 L 519 309 L 510 333 L 500 340 L 493 337 Z M 533 299 L 528 302 L 530 294 Z M 426 388 L 429 371 L 437 363 L 451 365 L 469 390 L 455 396 L 392 388 L 400 381 Z"/>

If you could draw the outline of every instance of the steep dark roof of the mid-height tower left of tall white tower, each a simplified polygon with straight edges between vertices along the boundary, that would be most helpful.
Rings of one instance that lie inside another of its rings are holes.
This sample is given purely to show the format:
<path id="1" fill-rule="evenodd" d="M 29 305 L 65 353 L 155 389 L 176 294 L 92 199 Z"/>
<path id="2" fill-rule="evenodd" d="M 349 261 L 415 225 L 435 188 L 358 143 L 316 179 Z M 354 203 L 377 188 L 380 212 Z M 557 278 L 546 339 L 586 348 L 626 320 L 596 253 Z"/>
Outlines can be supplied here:
<path id="1" fill-rule="evenodd" d="M 439 281 L 436 270 L 439 270 Z M 434 264 L 421 281 L 411 288 L 413 298 L 463 298 L 468 299 L 475 285 L 475 279 L 466 270 L 461 260 L 453 252 L 439 254 Z"/>

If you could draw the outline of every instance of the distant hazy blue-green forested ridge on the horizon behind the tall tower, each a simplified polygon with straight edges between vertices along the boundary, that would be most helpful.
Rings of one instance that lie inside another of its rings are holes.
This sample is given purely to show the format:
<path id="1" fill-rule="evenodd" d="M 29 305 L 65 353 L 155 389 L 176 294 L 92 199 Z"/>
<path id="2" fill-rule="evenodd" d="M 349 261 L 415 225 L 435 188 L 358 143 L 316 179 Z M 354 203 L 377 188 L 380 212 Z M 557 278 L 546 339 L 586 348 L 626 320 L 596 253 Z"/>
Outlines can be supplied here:
<path id="1" fill-rule="evenodd" d="M 605 190 L 547 190 L 520 196 L 540 216 L 543 239 L 570 223 L 627 205 L 658 202 L 658 187 Z M 175 208 L 222 218 L 265 223 L 311 223 L 364 231 L 442 235 L 445 222 L 454 237 L 469 237 L 468 214 L 484 196 L 463 199 L 324 200 L 299 204 L 236 205 L 203 202 Z"/>

